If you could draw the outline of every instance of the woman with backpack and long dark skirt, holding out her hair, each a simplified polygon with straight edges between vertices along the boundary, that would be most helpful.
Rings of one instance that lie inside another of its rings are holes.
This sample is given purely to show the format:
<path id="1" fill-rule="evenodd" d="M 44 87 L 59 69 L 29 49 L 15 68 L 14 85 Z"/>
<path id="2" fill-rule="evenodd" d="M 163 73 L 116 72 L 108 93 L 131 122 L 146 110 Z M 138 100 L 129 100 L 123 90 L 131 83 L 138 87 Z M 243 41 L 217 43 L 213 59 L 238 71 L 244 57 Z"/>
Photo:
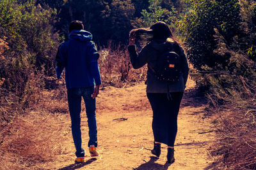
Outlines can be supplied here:
<path id="1" fill-rule="evenodd" d="M 142 50 L 136 52 L 136 40 L 148 40 Z M 134 69 L 148 66 L 147 97 L 153 111 L 152 129 L 154 148 L 159 157 L 161 143 L 168 145 L 167 162 L 174 162 L 174 142 L 177 134 L 177 116 L 188 79 L 186 53 L 164 22 L 156 22 L 150 28 L 133 29 L 130 32 L 129 55 Z"/>

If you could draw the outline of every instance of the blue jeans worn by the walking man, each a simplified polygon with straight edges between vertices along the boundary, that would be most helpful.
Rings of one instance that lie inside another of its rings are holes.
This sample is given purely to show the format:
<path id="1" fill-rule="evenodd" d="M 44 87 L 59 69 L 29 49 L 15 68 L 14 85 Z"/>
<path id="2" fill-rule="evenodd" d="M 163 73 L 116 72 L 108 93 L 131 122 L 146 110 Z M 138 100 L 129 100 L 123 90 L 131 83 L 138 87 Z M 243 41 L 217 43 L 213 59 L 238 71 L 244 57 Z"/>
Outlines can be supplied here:
<path id="1" fill-rule="evenodd" d="M 83 97 L 86 108 L 87 122 L 89 127 L 89 142 L 88 146 L 95 145 L 97 147 L 97 125 L 95 117 L 96 100 L 91 97 L 94 86 L 83 88 L 68 89 L 68 108 L 71 118 L 71 129 L 74 144 L 76 146 L 76 156 L 84 157 L 81 139 L 81 99 Z"/>

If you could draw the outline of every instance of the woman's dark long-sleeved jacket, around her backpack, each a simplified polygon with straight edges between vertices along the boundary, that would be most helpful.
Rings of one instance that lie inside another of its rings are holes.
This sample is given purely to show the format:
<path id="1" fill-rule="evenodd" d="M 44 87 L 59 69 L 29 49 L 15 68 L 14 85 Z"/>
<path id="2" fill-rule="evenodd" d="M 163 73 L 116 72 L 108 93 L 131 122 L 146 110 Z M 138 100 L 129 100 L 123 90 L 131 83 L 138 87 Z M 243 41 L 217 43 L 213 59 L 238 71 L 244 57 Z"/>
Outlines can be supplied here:
<path id="1" fill-rule="evenodd" d="M 175 46 L 177 48 L 175 48 Z M 180 74 L 179 81 L 168 83 L 159 81 L 155 73 L 148 68 L 147 72 L 147 92 L 148 93 L 167 93 L 167 92 L 184 92 L 186 82 L 188 80 L 188 60 L 186 53 L 182 46 L 173 41 L 172 39 L 154 39 L 145 45 L 140 53 L 136 52 L 136 46 L 128 46 L 128 51 L 131 57 L 131 64 L 134 69 L 138 69 L 145 64 L 150 64 L 153 68 L 156 67 L 157 56 L 160 56 L 166 49 L 171 47 L 181 57 L 182 60 L 182 73 Z"/>

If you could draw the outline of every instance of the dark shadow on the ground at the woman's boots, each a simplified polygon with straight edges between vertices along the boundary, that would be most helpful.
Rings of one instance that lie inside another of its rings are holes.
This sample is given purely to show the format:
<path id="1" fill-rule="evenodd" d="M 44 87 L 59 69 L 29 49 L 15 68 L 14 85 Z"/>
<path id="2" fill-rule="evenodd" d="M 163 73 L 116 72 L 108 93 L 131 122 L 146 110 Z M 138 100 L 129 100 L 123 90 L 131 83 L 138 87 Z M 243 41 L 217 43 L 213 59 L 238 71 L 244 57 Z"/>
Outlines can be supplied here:
<path id="1" fill-rule="evenodd" d="M 153 169 L 163 169 L 163 170 L 167 170 L 168 167 L 171 164 L 168 164 L 166 162 L 166 164 L 161 165 L 161 164 L 157 164 L 156 160 L 159 159 L 157 157 L 150 157 L 150 160 L 144 164 L 141 164 L 139 167 L 133 168 L 134 170 L 143 170 L 143 169 L 147 169 L 147 170 L 153 170 Z"/>

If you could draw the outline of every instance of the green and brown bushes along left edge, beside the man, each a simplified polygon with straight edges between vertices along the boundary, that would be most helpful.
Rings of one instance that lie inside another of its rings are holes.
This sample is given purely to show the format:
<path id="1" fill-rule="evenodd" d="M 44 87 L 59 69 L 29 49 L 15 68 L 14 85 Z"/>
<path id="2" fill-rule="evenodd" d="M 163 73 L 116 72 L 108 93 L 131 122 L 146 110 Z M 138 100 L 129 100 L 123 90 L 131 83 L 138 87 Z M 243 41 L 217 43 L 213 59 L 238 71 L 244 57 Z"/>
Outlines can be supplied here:
<path id="1" fill-rule="evenodd" d="M 35 89 L 44 85 L 37 74 L 54 74 L 59 38 L 53 34 L 56 11 L 51 8 L 35 6 L 34 1 L 3 0 L 0 11 L 0 48 L 5 50 L 0 62 L 0 120 L 8 123 L 36 100 Z"/>

